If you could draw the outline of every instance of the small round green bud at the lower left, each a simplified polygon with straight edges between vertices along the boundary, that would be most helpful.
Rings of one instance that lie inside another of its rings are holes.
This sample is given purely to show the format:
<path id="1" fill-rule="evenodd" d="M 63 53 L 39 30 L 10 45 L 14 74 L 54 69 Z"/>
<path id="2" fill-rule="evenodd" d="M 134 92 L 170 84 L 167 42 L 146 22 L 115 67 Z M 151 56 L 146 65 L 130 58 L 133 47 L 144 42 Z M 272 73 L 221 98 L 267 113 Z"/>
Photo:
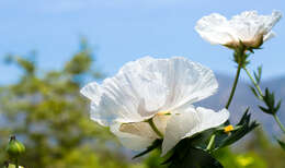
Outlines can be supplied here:
<path id="1" fill-rule="evenodd" d="M 25 152 L 25 146 L 20 141 L 15 140 L 15 136 L 11 136 L 5 152 L 10 157 L 18 158 Z"/>

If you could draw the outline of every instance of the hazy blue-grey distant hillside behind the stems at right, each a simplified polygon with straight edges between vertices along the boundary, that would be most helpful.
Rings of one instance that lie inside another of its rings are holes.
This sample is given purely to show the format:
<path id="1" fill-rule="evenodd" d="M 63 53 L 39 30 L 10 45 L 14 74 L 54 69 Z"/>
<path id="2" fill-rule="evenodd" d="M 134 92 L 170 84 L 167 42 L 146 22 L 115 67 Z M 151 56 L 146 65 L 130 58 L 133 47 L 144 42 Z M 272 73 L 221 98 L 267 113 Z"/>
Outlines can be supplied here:
<path id="1" fill-rule="evenodd" d="M 217 110 L 225 106 L 231 89 L 233 79 L 221 74 L 217 74 L 216 77 L 219 83 L 218 93 L 201 101 L 198 105 Z M 263 86 L 266 86 L 270 88 L 270 91 L 275 92 L 277 99 L 281 98 L 284 100 L 282 103 L 281 110 L 278 111 L 278 116 L 281 121 L 285 124 L 285 76 L 269 81 L 261 81 L 261 83 L 262 91 L 264 91 L 265 88 Z M 231 121 L 237 122 L 243 111 L 247 109 L 247 107 L 250 107 L 250 111 L 253 118 L 262 123 L 264 130 L 267 132 L 269 135 L 272 135 L 273 133 L 281 133 L 281 130 L 275 123 L 274 119 L 270 115 L 262 112 L 258 108 L 258 105 L 262 105 L 262 103 L 256 100 L 256 98 L 253 96 L 249 88 L 249 84 L 250 83 L 246 83 L 244 81 L 242 81 L 242 79 L 238 84 L 236 95 L 229 109 L 231 112 Z"/>

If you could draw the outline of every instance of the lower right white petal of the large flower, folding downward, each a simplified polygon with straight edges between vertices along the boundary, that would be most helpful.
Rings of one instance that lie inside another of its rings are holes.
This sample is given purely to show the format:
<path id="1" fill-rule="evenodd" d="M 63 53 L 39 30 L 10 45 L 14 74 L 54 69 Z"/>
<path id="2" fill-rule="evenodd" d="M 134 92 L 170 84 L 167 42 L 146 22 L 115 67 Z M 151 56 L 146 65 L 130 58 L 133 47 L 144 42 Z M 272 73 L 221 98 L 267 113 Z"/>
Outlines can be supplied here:
<path id="1" fill-rule="evenodd" d="M 167 124 L 161 155 L 166 155 L 182 139 L 216 128 L 226 122 L 228 118 L 229 112 L 226 109 L 215 112 L 205 108 L 187 108 L 180 111 L 179 115 L 172 115 Z"/>

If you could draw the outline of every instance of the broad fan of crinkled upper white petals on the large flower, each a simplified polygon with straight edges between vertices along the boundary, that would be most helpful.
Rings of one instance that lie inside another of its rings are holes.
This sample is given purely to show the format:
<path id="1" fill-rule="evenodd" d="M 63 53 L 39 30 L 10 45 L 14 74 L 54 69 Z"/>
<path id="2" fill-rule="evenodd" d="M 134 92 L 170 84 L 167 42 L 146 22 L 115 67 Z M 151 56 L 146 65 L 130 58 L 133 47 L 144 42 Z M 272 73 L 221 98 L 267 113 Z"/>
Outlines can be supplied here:
<path id="1" fill-rule="evenodd" d="M 182 57 L 146 57 L 126 63 L 102 85 L 91 83 L 81 93 L 92 100 L 91 117 L 104 125 L 140 122 L 161 110 L 198 101 L 216 92 L 212 70 Z"/>

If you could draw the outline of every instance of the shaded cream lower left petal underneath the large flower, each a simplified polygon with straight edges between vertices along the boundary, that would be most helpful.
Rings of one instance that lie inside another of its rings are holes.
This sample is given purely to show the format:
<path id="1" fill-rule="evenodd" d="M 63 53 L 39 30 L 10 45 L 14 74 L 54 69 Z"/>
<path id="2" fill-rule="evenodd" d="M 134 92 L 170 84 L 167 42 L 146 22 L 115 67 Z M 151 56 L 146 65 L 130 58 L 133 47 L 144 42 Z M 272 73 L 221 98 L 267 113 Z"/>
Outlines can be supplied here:
<path id="1" fill-rule="evenodd" d="M 111 131 L 118 137 L 119 142 L 127 148 L 140 151 L 150 146 L 156 139 L 139 136 L 119 131 L 121 124 L 113 124 Z"/>

